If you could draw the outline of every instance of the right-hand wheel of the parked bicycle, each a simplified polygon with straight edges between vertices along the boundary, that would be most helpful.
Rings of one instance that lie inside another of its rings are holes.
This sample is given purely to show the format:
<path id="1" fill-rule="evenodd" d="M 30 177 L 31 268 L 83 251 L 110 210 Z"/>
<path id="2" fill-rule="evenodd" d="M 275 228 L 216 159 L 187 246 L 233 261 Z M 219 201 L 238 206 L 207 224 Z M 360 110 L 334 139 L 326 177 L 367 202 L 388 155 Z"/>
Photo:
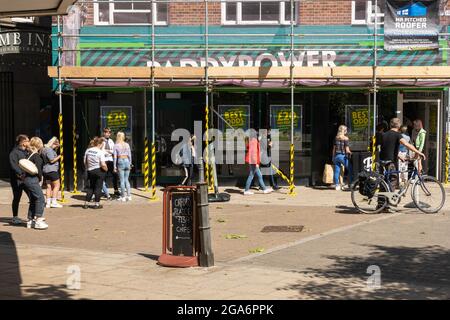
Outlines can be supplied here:
<path id="1" fill-rule="evenodd" d="M 411 197 L 420 211 L 436 213 L 444 206 L 445 190 L 436 178 L 422 176 L 414 182 Z"/>

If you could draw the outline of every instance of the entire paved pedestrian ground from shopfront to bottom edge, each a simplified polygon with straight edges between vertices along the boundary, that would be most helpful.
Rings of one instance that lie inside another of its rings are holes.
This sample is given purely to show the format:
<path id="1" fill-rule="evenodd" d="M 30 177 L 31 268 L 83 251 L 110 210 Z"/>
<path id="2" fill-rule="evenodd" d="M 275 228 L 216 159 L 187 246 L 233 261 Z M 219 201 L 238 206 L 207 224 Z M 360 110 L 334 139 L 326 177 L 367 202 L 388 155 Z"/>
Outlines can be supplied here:
<path id="1" fill-rule="evenodd" d="M 0 188 L 0 299 L 449 298 L 448 202 L 437 215 L 362 215 L 349 192 L 225 189 L 231 202 L 210 205 L 216 267 L 172 269 L 156 264 L 162 207 L 148 193 L 133 190 L 131 203 L 103 210 L 68 196 L 38 231 L 9 225 L 9 189 Z M 267 225 L 305 228 L 262 233 Z M 245 238 L 226 239 L 231 233 Z M 256 248 L 263 253 L 249 252 Z M 369 265 L 381 269 L 380 290 L 366 285 Z M 81 288 L 69 290 L 77 270 Z"/>

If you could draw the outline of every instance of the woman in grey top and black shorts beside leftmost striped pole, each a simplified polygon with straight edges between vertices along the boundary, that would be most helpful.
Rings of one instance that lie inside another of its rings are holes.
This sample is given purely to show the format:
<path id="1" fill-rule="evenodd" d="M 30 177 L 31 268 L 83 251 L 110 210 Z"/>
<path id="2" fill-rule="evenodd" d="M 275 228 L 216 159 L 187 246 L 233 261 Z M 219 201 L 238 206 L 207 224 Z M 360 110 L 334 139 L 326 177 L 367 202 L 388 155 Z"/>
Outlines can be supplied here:
<path id="1" fill-rule="evenodd" d="M 56 137 L 51 138 L 42 149 L 42 158 L 44 160 L 44 182 L 47 184 L 47 204 L 46 208 L 62 208 L 56 199 L 58 198 L 60 184 L 59 160 L 61 156 L 56 153 L 59 148 L 59 140 Z"/>

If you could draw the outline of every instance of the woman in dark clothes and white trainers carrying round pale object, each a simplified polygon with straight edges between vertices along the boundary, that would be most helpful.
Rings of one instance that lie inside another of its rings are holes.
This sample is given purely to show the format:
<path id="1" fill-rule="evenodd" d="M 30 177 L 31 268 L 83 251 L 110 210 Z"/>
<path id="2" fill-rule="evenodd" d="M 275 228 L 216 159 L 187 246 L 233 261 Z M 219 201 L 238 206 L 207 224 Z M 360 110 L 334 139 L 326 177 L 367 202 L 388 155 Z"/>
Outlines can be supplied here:
<path id="1" fill-rule="evenodd" d="M 45 222 L 44 207 L 45 198 L 41 188 L 42 181 L 42 168 L 43 160 L 41 151 L 44 148 L 42 140 L 38 137 L 30 139 L 30 145 L 28 147 L 30 157 L 28 158 L 37 168 L 37 174 L 31 174 L 26 172 L 24 184 L 28 191 L 30 198 L 30 207 L 28 208 L 28 221 L 27 228 L 34 228 L 38 230 L 45 230 L 48 228 L 48 224 Z"/>

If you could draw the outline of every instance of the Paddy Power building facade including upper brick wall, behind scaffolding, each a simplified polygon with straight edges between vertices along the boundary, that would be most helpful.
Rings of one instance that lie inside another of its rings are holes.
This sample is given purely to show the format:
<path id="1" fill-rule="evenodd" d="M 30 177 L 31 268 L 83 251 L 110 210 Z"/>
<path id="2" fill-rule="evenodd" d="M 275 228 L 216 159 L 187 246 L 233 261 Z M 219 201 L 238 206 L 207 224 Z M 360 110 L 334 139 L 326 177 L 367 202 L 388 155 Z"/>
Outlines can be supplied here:
<path id="1" fill-rule="evenodd" d="M 300 0 L 295 1 L 291 11 L 290 1 L 211 0 L 207 10 L 205 1 L 83 1 L 61 24 L 65 35 L 62 65 L 154 66 L 166 70 L 205 66 L 290 67 L 292 62 L 295 67 L 318 70 L 372 67 L 375 62 L 379 67 L 449 65 L 446 33 L 450 12 L 446 1 L 440 3 L 439 50 L 428 51 L 383 50 L 385 3 L 384 0 L 377 3 L 378 7 L 375 1 L 366 0 Z M 378 32 L 374 32 L 376 17 Z M 293 43 L 291 20 L 296 35 Z M 54 24 L 53 33 L 57 32 Z M 56 41 L 53 49 L 55 62 Z M 376 61 L 374 52 L 377 52 Z M 296 81 L 295 175 L 300 183 L 320 183 L 324 164 L 331 161 L 333 138 L 339 125 L 349 127 L 351 147 L 357 155 L 367 151 L 373 123 L 395 116 L 409 125 L 415 119 L 423 120 L 428 132 L 426 171 L 444 179 L 449 83 L 443 79 L 422 81 L 420 78 L 377 81 L 375 121 L 370 79 L 333 76 Z M 160 182 L 176 181 L 174 176 L 179 175 L 178 168 L 170 161 L 174 144 L 170 141 L 172 129 L 193 131 L 194 121 L 205 120 L 204 80 L 166 79 L 157 84 L 155 131 Z M 86 146 L 108 124 L 127 128 L 137 159 L 136 175 L 141 174 L 144 139 L 151 136 L 152 130 L 149 88 L 150 72 L 148 81 L 84 75 L 66 78 L 65 90 L 76 92 L 79 148 Z M 212 109 L 210 127 L 279 129 L 280 167 L 289 172 L 289 81 L 260 78 L 212 82 L 208 98 Z M 223 165 L 218 171 L 219 180 L 235 182 L 246 175 L 247 168 Z"/>

